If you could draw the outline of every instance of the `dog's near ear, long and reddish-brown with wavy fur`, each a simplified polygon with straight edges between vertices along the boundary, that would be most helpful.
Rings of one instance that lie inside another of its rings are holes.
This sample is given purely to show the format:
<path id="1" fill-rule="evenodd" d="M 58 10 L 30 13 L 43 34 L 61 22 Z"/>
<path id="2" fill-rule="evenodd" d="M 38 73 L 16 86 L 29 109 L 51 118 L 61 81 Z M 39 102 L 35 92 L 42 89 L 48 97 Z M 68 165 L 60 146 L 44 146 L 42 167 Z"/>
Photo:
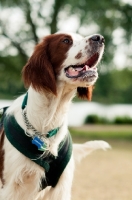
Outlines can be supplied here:
<path id="1" fill-rule="evenodd" d="M 26 87 L 32 85 L 37 91 L 47 90 L 56 95 L 56 79 L 48 58 L 48 43 L 45 38 L 35 47 L 33 55 L 22 70 L 22 76 Z"/>

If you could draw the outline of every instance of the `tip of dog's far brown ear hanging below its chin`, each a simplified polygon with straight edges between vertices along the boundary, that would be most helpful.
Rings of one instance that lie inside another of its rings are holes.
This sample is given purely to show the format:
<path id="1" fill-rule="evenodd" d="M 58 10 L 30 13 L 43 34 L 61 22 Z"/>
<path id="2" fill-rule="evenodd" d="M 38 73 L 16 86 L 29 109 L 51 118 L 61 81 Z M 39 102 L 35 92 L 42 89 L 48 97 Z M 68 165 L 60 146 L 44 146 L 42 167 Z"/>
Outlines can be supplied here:
<path id="1" fill-rule="evenodd" d="M 78 97 L 81 99 L 87 99 L 88 101 L 91 101 L 93 88 L 94 88 L 93 85 L 89 87 L 78 87 L 77 88 Z"/>

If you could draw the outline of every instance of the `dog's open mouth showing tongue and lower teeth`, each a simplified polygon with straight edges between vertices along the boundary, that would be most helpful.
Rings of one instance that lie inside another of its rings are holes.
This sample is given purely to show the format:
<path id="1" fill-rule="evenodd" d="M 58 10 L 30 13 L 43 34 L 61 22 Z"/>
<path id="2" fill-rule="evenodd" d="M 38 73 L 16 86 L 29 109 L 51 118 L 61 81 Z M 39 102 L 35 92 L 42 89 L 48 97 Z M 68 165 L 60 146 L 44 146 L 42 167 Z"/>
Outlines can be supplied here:
<path id="1" fill-rule="evenodd" d="M 94 76 L 97 71 L 96 64 L 99 58 L 99 53 L 95 53 L 84 64 L 70 65 L 64 69 L 68 78 L 79 78 L 87 74 L 87 76 Z"/>

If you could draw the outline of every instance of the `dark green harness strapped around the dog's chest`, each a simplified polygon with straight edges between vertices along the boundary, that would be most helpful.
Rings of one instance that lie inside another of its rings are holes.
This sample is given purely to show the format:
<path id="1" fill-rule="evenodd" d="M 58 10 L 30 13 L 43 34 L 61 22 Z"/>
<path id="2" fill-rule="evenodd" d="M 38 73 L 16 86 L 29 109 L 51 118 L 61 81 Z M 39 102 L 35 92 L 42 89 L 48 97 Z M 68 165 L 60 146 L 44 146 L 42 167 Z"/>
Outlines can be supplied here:
<path id="1" fill-rule="evenodd" d="M 13 115 L 6 115 L 4 108 L 1 126 L 4 126 L 6 137 L 10 143 L 23 155 L 28 157 L 45 170 L 44 178 L 41 178 L 41 190 L 47 186 L 55 187 L 72 154 L 72 139 L 68 133 L 58 148 L 58 156 L 52 154 L 43 156 L 44 150 L 33 144 L 32 138 L 25 134 Z"/>

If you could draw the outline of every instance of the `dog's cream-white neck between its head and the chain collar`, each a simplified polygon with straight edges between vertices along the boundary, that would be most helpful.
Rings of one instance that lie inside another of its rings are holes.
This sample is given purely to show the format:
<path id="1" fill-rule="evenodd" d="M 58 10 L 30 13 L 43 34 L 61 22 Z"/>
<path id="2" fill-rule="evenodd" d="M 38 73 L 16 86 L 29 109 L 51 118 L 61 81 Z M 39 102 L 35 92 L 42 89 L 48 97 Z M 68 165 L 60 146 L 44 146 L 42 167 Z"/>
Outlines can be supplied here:
<path id="1" fill-rule="evenodd" d="M 62 126 L 67 121 L 69 105 L 75 91 L 74 87 L 68 87 L 64 83 L 57 86 L 57 96 L 50 92 L 37 92 L 30 87 L 27 117 L 31 124 L 40 132 Z"/>

